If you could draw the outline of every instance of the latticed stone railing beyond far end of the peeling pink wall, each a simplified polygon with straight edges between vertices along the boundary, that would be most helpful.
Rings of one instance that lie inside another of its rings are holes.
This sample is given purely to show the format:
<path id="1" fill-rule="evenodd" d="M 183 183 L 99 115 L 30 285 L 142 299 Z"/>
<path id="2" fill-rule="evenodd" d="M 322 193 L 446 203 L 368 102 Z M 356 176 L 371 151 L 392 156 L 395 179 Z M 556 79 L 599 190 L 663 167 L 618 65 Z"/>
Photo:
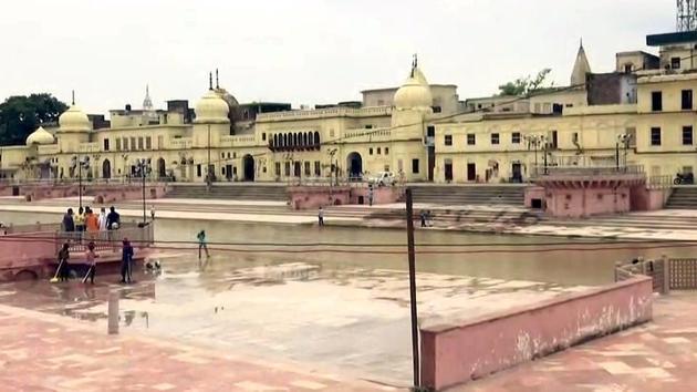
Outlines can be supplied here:
<path id="1" fill-rule="evenodd" d="M 656 260 L 637 258 L 615 265 L 615 281 L 631 279 L 637 275 L 651 277 L 656 292 L 695 290 L 697 289 L 697 259 L 673 259 L 664 256 Z"/>

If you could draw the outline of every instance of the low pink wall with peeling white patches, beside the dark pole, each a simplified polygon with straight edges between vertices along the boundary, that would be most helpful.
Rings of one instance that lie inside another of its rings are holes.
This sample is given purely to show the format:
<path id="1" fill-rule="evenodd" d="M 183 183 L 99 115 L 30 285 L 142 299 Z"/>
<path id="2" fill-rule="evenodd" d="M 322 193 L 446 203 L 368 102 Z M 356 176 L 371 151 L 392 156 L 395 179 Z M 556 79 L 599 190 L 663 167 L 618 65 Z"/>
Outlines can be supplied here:
<path id="1" fill-rule="evenodd" d="M 652 319 L 637 277 L 461 324 L 422 329 L 422 380 L 441 390 Z"/>

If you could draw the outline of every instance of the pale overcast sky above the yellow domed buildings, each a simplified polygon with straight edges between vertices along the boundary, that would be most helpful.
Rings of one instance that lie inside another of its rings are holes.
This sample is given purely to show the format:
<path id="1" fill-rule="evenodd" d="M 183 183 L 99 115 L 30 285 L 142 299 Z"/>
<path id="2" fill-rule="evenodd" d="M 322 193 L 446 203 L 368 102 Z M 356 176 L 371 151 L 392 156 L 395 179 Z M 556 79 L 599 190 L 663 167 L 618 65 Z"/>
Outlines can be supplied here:
<path id="1" fill-rule="evenodd" d="M 675 0 L 21 0 L 0 13 L 0 99 L 50 92 L 91 113 L 197 100 L 207 73 L 240 102 L 360 100 L 398 85 L 412 54 L 460 99 L 551 68 L 569 83 L 583 43 L 595 72 L 673 31 Z"/>

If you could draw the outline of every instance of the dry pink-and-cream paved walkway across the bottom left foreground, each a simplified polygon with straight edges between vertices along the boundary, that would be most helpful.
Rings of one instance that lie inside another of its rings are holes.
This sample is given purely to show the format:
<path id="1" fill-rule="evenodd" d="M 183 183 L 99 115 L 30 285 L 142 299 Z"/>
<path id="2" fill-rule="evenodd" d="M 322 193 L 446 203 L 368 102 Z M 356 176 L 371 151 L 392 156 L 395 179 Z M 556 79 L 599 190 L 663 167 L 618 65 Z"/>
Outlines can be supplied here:
<path id="1" fill-rule="evenodd" d="M 164 339 L 107 336 L 103 322 L 8 306 L 0 306 L 0 384 L 3 391 L 395 390 Z"/>

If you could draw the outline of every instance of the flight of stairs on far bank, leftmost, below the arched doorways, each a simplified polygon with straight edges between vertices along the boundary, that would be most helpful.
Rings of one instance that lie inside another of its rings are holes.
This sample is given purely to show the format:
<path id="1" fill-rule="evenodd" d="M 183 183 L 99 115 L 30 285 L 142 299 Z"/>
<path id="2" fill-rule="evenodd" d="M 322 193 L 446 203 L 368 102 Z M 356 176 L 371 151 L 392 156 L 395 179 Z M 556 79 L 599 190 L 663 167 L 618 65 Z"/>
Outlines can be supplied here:
<path id="1" fill-rule="evenodd" d="M 171 185 L 167 198 L 200 198 L 222 200 L 287 202 L 285 185 L 235 184 L 212 185 Z"/>

